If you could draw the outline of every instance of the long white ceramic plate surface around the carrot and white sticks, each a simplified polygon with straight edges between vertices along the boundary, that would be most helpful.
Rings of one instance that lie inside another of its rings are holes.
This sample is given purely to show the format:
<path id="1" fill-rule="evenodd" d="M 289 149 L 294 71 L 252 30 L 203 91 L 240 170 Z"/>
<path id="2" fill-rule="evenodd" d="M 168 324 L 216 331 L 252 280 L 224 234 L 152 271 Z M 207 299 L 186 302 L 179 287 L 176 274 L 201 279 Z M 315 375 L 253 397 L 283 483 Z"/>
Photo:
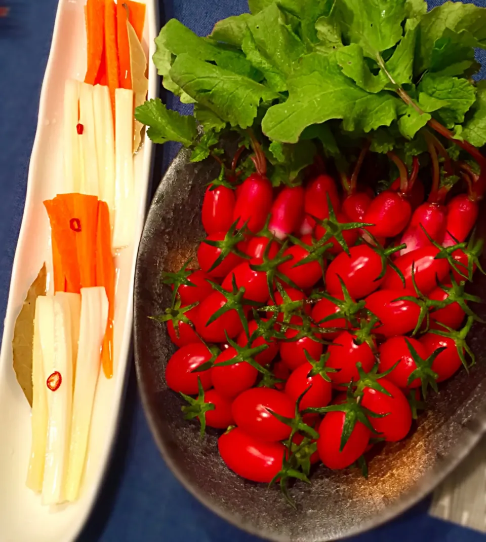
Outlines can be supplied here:
<path id="1" fill-rule="evenodd" d="M 140 0 L 139 0 L 140 1 Z M 142 0 L 143 1 L 143 0 Z M 157 92 L 153 62 L 157 11 L 145 0 L 143 46 L 149 59 L 149 98 Z M 148 138 L 135 158 L 136 229 L 133 243 L 116 258 L 114 377 L 101 374 L 96 390 L 88 462 L 81 498 L 75 504 L 41 506 L 25 487 L 30 454 L 30 406 L 12 369 L 11 341 L 23 300 L 44 261 L 50 260 L 50 229 L 42 202 L 62 191 L 62 112 L 64 81 L 86 73 L 86 0 L 59 0 L 54 36 L 44 75 L 27 198 L 15 253 L 0 352 L 0 542 L 71 542 L 87 520 L 100 489 L 113 444 L 127 374 L 132 336 L 135 260 L 145 219 L 152 146 Z"/>

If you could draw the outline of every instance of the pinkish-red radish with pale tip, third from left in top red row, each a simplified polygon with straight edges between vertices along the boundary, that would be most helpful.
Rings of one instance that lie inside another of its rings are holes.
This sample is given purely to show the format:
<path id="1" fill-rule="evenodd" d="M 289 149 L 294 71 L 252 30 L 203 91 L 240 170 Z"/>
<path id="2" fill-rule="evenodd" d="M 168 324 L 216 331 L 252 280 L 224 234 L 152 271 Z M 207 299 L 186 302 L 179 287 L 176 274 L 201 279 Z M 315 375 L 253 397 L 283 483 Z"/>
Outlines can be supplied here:
<path id="1" fill-rule="evenodd" d="M 268 229 L 282 241 L 297 229 L 304 215 L 302 186 L 286 186 L 275 199 L 271 214 Z"/>

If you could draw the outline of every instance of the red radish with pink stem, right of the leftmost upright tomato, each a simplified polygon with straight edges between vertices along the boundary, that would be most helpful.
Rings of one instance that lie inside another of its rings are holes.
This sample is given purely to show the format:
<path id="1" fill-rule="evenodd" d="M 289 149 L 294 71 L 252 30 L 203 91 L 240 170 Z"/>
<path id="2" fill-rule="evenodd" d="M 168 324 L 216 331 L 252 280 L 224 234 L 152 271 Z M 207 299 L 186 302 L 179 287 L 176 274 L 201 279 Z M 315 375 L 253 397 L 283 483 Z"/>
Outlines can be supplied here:
<path id="1" fill-rule="evenodd" d="M 247 222 L 247 228 L 253 233 L 260 231 L 272 208 L 272 183 L 259 173 L 252 173 L 242 184 L 233 211 L 233 222 L 237 227 Z"/>

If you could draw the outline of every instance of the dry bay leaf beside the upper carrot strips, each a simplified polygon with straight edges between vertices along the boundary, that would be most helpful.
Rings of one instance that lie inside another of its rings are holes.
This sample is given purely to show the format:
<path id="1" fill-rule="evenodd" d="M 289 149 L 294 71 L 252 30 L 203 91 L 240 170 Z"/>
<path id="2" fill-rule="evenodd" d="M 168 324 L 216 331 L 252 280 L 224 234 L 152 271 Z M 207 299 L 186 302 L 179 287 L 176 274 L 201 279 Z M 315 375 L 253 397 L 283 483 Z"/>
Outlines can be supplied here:
<path id="1" fill-rule="evenodd" d="M 130 70 L 132 72 L 134 107 L 138 107 L 145 102 L 147 97 L 148 79 L 145 76 L 147 71 L 147 57 L 133 26 L 128 21 L 127 30 L 128 44 L 130 46 Z M 133 152 L 136 152 L 140 147 L 143 127 L 143 124 L 135 119 L 133 124 Z"/>

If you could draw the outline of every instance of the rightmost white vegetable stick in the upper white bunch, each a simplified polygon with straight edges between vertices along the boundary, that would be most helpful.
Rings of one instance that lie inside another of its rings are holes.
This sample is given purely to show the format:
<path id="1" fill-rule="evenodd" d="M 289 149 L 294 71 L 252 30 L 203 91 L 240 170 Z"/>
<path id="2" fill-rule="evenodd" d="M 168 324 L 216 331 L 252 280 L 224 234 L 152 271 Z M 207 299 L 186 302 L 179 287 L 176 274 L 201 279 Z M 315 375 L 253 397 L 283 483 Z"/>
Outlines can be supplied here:
<path id="1" fill-rule="evenodd" d="M 133 92 L 115 89 L 115 249 L 127 247 L 134 234 L 133 120 Z"/>

